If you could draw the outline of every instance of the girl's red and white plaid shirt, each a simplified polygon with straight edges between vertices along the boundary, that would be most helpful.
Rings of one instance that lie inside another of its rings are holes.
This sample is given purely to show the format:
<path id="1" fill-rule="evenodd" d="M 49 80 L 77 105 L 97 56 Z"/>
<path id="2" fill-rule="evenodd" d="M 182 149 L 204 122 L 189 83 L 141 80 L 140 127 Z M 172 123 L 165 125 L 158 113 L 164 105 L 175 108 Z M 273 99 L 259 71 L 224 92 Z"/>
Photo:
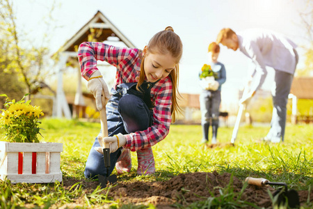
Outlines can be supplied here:
<path id="1" fill-rule="evenodd" d="M 138 82 L 141 70 L 141 50 L 106 45 L 102 42 L 83 42 L 79 46 L 79 64 L 81 75 L 89 79 L 97 69 L 97 60 L 106 61 L 116 67 L 113 88 L 122 83 Z M 151 100 L 154 104 L 154 123 L 147 130 L 125 134 L 125 148 L 136 151 L 154 146 L 164 139 L 170 130 L 172 99 L 172 81 L 170 77 L 160 79 L 151 88 Z"/>

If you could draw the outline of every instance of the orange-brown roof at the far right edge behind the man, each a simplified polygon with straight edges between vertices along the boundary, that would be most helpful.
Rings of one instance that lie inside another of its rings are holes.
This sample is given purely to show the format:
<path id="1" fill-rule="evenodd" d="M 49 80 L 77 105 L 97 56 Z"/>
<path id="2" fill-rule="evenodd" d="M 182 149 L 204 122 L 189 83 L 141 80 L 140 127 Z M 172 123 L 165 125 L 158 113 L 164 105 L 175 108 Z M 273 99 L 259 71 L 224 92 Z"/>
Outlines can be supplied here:
<path id="1" fill-rule="evenodd" d="M 313 77 L 295 77 L 290 93 L 298 99 L 313 100 Z"/>

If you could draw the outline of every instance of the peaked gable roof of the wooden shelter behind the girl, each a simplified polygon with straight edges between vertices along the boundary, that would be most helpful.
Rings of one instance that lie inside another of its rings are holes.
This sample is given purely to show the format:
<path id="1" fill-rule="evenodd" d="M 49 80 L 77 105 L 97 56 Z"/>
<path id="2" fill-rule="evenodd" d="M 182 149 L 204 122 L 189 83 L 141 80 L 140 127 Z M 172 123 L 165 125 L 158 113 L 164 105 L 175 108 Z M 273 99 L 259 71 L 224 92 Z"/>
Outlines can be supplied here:
<path id="1" fill-rule="evenodd" d="M 93 29 L 93 30 L 90 30 Z M 93 32 L 92 32 L 93 31 Z M 97 41 L 102 42 L 110 36 L 115 36 L 124 42 L 127 47 L 135 47 L 134 44 L 124 36 L 116 26 L 114 26 L 103 13 L 97 11 L 95 16 L 91 18 L 77 33 L 72 36 L 63 47 L 63 52 L 76 52 L 75 46 L 79 46 L 82 42 L 88 41 L 88 36 L 94 34 Z"/>

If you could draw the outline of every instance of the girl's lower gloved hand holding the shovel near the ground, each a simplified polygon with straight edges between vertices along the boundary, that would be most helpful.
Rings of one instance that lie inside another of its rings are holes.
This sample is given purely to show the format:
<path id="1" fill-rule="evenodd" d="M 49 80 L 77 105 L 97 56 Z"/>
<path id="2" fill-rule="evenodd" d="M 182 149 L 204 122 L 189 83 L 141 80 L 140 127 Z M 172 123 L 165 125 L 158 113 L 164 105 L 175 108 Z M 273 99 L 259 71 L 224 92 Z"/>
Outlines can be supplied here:
<path id="1" fill-rule="evenodd" d="M 104 148 L 104 143 L 110 143 L 110 153 L 114 153 L 121 146 L 125 146 L 126 137 L 121 133 L 114 135 L 113 137 L 104 137 L 104 138 L 102 138 L 102 136 L 99 135 L 98 141 L 100 146 L 95 147 L 95 150 L 97 150 L 98 153 L 103 154 L 102 149 Z"/>

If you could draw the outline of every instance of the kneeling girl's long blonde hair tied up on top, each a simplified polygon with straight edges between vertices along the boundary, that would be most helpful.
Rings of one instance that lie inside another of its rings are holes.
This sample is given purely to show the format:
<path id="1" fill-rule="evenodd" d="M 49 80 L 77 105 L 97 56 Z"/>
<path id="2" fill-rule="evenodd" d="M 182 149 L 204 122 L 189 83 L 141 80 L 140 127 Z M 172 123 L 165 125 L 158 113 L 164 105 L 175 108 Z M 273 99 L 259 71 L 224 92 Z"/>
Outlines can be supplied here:
<path id="1" fill-rule="evenodd" d="M 150 53 L 170 53 L 173 58 L 176 59 L 177 65 L 175 69 L 170 72 L 170 79 L 172 79 L 172 107 L 170 108 L 170 114 L 172 114 L 172 122 L 175 122 L 177 112 L 182 112 L 177 102 L 177 97 L 181 97 L 178 92 L 178 75 L 179 75 L 179 60 L 182 58 L 182 40 L 179 36 L 174 33 L 171 26 L 166 27 L 164 31 L 156 33 L 149 41 L 147 45 L 147 51 Z M 140 91 L 139 87 L 145 81 L 145 70 L 143 63 L 145 61 L 145 56 L 141 61 L 141 74 L 138 80 L 136 89 Z"/>

